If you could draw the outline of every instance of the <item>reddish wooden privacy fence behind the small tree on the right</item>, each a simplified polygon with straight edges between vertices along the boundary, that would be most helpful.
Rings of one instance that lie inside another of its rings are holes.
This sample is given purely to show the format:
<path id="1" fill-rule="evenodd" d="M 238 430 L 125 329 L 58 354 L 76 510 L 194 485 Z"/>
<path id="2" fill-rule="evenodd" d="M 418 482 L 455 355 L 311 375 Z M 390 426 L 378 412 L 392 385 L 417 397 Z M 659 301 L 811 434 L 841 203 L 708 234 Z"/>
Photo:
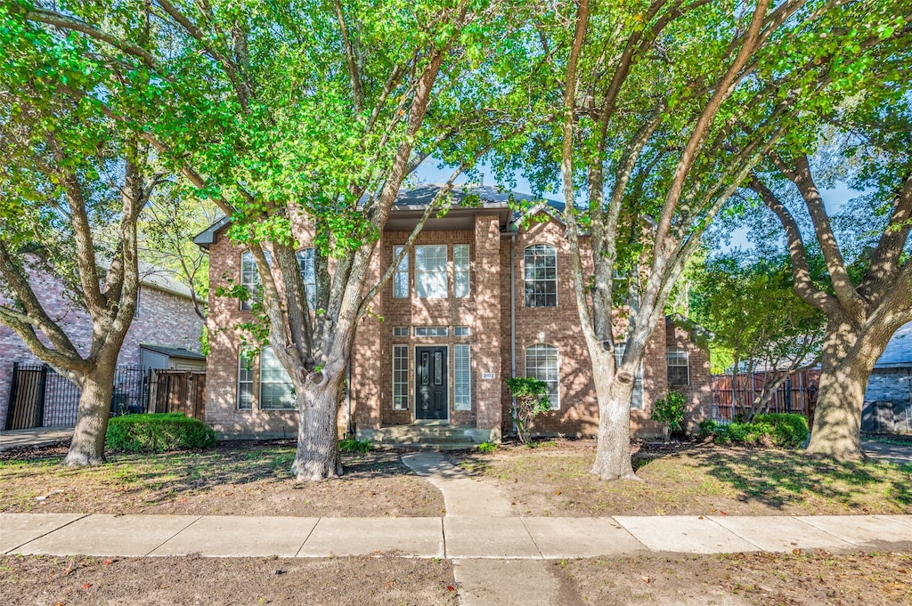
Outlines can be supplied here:
<path id="1" fill-rule="evenodd" d="M 729 422 L 740 418 L 761 393 L 767 381 L 775 381 L 781 375 L 775 372 L 712 375 L 711 417 L 716 421 Z M 732 383 L 734 386 L 732 387 Z M 789 375 L 772 395 L 771 413 L 794 413 L 803 415 L 808 425 L 814 425 L 814 408 L 817 405 L 817 388 L 820 385 L 820 371 L 803 370 Z M 739 404 L 735 404 L 738 395 Z"/>

